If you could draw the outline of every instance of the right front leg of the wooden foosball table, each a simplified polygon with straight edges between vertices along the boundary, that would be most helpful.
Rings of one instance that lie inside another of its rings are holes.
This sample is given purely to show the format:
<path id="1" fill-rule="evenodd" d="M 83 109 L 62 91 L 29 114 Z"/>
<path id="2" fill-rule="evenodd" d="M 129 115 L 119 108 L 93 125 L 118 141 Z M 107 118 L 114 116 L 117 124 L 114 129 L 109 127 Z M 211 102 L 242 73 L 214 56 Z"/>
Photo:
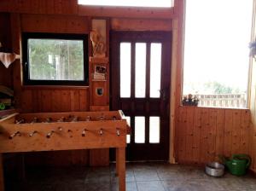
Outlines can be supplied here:
<path id="1" fill-rule="evenodd" d="M 125 191 L 125 148 L 116 148 L 116 165 L 119 176 L 119 191 Z"/>

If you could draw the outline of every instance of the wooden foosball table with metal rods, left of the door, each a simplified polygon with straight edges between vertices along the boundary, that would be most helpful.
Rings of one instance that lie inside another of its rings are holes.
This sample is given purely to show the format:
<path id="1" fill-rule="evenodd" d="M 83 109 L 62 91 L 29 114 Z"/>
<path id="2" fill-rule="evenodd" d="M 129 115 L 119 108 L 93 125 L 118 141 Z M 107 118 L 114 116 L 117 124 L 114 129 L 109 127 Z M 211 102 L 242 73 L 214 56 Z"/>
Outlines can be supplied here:
<path id="1" fill-rule="evenodd" d="M 0 120 L 0 191 L 3 153 L 116 148 L 119 191 L 125 191 L 125 147 L 129 126 L 122 111 L 14 113 Z"/>

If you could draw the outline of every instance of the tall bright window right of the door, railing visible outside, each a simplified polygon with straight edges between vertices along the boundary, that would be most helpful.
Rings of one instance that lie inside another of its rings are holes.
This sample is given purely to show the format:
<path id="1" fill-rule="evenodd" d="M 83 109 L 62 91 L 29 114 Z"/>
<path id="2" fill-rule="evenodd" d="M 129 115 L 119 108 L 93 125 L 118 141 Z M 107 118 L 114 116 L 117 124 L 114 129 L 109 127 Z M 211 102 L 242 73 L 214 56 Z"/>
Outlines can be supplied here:
<path id="1" fill-rule="evenodd" d="M 253 0 L 186 1 L 183 95 L 204 107 L 247 107 L 252 12 Z"/>

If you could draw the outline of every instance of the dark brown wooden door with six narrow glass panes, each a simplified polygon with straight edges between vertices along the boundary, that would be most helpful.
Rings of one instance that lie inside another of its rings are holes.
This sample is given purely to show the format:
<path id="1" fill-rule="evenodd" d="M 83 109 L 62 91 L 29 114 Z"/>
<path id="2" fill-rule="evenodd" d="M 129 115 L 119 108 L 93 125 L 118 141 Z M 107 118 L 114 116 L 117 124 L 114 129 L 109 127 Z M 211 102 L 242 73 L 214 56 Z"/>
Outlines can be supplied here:
<path id="1" fill-rule="evenodd" d="M 127 160 L 167 160 L 171 32 L 111 32 L 111 109 L 131 125 Z"/>

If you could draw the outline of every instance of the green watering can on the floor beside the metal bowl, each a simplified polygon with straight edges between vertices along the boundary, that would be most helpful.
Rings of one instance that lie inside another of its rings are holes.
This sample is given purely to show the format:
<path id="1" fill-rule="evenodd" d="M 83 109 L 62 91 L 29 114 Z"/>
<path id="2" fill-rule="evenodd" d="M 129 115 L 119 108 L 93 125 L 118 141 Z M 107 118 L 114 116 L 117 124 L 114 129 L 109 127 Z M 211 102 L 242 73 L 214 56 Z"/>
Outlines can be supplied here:
<path id="1" fill-rule="evenodd" d="M 247 154 L 233 154 L 231 159 L 220 156 L 224 165 L 232 175 L 242 176 L 247 172 L 247 168 L 251 165 L 251 158 Z"/>

